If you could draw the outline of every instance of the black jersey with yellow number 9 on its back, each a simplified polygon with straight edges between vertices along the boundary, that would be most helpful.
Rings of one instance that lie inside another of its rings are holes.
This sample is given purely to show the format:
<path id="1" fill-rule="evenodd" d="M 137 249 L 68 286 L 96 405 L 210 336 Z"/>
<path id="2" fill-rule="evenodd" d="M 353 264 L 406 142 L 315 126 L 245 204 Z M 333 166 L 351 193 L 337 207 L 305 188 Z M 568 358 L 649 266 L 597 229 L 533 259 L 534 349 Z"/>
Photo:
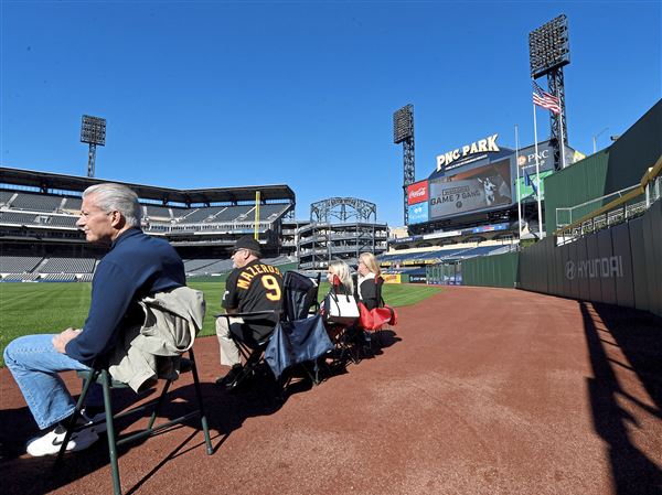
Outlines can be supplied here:
<path id="1" fill-rule="evenodd" d="M 239 313 L 254 311 L 280 310 L 282 301 L 282 275 L 280 270 L 258 259 L 244 268 L 235 268 L 225 282 L 222 305 L 236 309 Z M 267 316 L 259 322 L 249 322 L 256 330 L 273 329 L 278 323 L 279 314 Z"/>

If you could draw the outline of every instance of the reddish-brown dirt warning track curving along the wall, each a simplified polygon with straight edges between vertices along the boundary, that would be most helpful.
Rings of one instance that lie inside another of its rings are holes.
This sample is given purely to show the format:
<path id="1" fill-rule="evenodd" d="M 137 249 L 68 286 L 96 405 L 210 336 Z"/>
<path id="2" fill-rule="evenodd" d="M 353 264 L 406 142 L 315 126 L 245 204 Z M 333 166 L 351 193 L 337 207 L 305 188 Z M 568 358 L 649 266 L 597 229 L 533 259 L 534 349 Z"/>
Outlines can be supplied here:
<path id="1" fill-rule="evenodd" d="M 179 428 L 120 449 L 125 493 L 662 493 L 662 323 L 524 291 L 449 288 L 399 310 L 372 358 L 285 402 L 227 394 L 217 342 L 195 344 L 216 452 Z M 79 390 L 71 374 L 67 384 Z M 181 398 L 193 399 L 183 378 Z M 3 494 L 111 492 L 107 445 L 20 455 L 36 432 L 0 370 Z M 118 398 L 118 403 L 131 395 Z M 124 401 L 124 402 L 122 402 Z M 193 426 L 193 422 L 191 423 Z M 126 424 L 126 430 L 131 429 Z"/>

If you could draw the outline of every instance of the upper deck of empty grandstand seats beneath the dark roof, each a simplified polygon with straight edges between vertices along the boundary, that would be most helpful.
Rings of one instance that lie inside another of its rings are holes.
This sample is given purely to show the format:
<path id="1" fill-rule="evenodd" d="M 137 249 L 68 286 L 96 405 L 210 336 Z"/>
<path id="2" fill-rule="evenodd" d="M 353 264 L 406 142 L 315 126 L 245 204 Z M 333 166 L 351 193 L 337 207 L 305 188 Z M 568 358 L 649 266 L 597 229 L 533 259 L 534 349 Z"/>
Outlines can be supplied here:
<path id="1" fill-rule="evenodd" d="M 0 223 L 74 228 L 82 203 L 79 197 L 0 191 Z M 284 215 L 288 206 L 281 203 L 260 205 L 259 220 L 273 222 Z M 255 216 L 255 205 L 193 208 L 143 205 L 142 215 L 149 223 L 183 225 L 250 222 Z"/>

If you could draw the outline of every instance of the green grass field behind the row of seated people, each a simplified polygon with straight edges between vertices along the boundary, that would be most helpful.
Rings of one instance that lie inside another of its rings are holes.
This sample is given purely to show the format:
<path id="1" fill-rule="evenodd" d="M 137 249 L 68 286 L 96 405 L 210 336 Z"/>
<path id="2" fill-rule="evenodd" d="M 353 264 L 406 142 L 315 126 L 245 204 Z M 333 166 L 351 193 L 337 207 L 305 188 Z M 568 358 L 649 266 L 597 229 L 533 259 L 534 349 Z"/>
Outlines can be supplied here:
<path id="1" fill-rule="evenodd" d="M 190 282 L 204 292 L 207 303 L 200 335 L 213 335 L 214 313 L 221 312 L 223 282 Z M 320 286 L 320 298 L 329 290 Z M 393 306 L 405 306 L 429 298 L 441 289 L 431 286 L 385 284 L 384 300 Z M 0 283 L 0 366 L 1 352 L 20 335 L 57 333 L 70 326 L 79 329 L 89 308 L 92 283 Z"/>

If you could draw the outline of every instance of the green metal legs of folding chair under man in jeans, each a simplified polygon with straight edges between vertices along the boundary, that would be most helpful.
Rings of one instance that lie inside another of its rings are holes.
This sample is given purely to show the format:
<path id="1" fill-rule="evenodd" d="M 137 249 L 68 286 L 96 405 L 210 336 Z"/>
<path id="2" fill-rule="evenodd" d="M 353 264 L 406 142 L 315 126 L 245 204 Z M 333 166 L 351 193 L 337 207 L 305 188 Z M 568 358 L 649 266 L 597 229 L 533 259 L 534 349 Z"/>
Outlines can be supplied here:
<path id="1" fill-rule="evenodd" d="M 210 438 L 210 430 L 207 427 L 206 416 L 204 415 L 204 406 L 202 402 L 202 391 L 200 389 L 200 379 L 197 378 L 197 367 L 195 365 L 195 357 L 193 355 L 193 349 L 189 349 L 189 358 L 180 357 L 180 375 L 182 373 L 191 372 L 193 374 L 193 384 L 195 387 L 195 396 L 197 401 L 197 408 L 192 410 L 191 412 L 181 416 L 179 418 L 172 419 L 164 423 L 161 423 L 154 427 L 154 422 L 159 410 L 163 402 L 167 399 L 168 390 L 170 385 L 172 384 L 171 379 L 166 380 L 166 385 L 163 386 L 163 390 L 157 400 L 152 400 L 146 405 L 135 407 L 128 411 L 119 412 L 117 415 L 113 415 L 113 403 L 110 400 L 110 390 L 119 389 L 119 388 L 129 388 L 129 386 L 122 381 L 113 380 L 110 374 L 106 367 L 103 366 L 93 366 L 89 372 L 78 372 L 78 376 L 83 378 L 84 385 L 83 390 L 81 392 L 81 397 L 76 403 L 76 409 L 74 410 L 74 415 L 71 417 L 64 441 L 62 442 L 62 448 L 60 449 L 60 453 L 57 454 L 57 459 L 55 460 L 55 465 L 57 465 L 65 453 L 66 444 L 68 443 L 73 432 L 76 430 L 75 424 L 77 419 L 81 417 L 81 411 L 85 403 L 85 398 L 87 397 L 87 392 L 89 391 L 89 386 L 92 383 L 100 384 L 104 390 L 104 409 L 106 412 L 106 432 L 108 435 L 108 451 L 110 455 L 110 470 L 113 473 L 113 492 L 116 495 L 121 495 L 121 485 L 119 483 L 119 465 L 117 462 L 117 448 L 124 445 L 125 443 L 132 442 L 139 439 L 148 438 L 157 432 L 160 432 L 167 428 L 170 428 L 174 424 L 182 424 L 188 419 L 199 416 L 200 417 L 200 426 L 202 427 L 202 431 L 204 432 L 204 442 L 206 444 L 206 453 L 211 455 L 214 453 L 212 449 L 212 441 Z M 115 421 L 127 417 L 129 415 L 135 415 L 137 412 L 141 412 L 148 409 L 152 409 L 151 417 L 147 427 L 138 432 L 126 435 L 125 438 L 118 438 L 115 429 Z M 100 423 L 102 421 L 97 421 L 93 424 Z M 89 428 L 86 426 L 85 428 Z"/>

